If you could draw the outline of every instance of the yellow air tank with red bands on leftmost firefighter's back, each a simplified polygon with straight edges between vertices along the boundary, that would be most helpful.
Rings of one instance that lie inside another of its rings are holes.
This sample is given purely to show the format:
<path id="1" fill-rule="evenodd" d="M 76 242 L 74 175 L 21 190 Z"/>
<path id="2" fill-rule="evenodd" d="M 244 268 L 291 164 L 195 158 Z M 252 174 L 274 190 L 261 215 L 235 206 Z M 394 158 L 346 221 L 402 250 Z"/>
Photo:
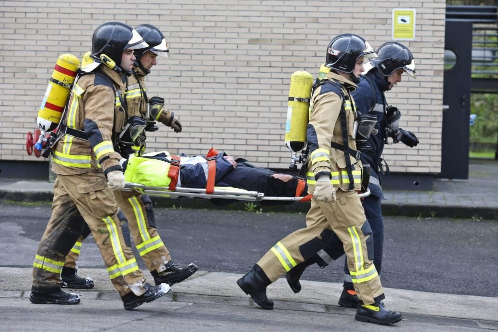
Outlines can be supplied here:
<path id="1" fill-rule="evenodd" d="M 72 54 L 61 54 L 57 59 L 36 119 L 43 134 L 59 124 L 79 67 L 80 61 Z"/>

